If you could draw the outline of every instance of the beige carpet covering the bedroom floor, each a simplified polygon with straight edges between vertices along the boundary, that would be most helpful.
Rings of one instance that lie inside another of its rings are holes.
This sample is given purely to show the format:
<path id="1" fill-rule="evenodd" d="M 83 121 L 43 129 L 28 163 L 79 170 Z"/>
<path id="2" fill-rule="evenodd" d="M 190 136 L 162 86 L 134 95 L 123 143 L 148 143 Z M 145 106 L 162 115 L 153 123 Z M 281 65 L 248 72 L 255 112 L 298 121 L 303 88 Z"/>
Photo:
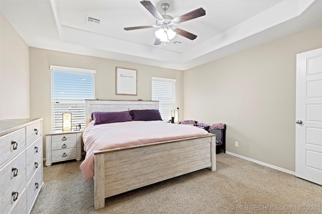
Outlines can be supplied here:
<path id="1" fill-rule="evenodd" d="M 31 213 L 322 213 L 322 186 L 225 153 L 217 171 L 199 170 L 105 199 L 94 209 L 94 181 L 80 162 L 44 167 Z M 308 210 L 309 208 L 318 210 Z"/>

